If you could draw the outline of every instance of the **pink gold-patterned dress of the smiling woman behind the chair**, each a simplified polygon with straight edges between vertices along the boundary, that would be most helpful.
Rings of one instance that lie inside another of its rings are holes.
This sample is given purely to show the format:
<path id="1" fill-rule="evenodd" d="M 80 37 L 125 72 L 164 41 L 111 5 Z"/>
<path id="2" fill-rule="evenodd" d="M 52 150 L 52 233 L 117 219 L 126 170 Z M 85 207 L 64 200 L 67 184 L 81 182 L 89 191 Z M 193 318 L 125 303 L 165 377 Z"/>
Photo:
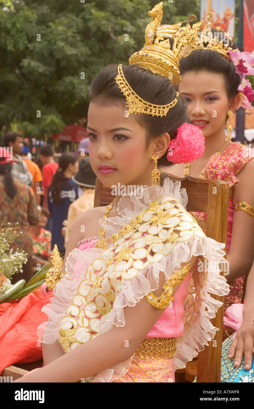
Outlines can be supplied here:
<path id="1" fill-rule="evenodd" d="M 205 179 L 212 180 L 224 180 L 232 187 L 235 183 L 239 182 L 236 178 L 237 173 L 243 169 L 254 156 L 252 155 L 252 149 L 246 145 L 237 144 L 232 142 L 230 146 L 221 155 L 212 155 L 210 160 L 205 166 Z M 239 198 L 241 200 L 241 198 Z M 228 205 L 228 225 L 227 225 L 227 254 L 230 250 L 230 243 L 232 237 L 233 227 L 233 200 L 229 198 Z M 192 216 L 197 220 L 199 226 L 205 233 L 206 213 L 190 212 Z M 224 315 L 225 310 L 233 303 L 241 303 L 243 298 L 243 280 L 244 277 L 240 277 L 229 283 L 230 292 L 224 299 Z M 232 335 L 233 329 L 223 326 L 223 340 Z"/>

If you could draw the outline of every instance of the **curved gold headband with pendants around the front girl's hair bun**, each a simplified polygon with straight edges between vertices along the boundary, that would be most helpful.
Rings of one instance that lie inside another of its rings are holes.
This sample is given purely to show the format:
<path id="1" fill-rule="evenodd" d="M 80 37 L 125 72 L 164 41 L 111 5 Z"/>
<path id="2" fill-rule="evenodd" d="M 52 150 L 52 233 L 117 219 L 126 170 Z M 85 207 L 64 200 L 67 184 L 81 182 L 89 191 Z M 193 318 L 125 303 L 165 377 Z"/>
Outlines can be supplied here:
<path id="1" fill-rule="evenodd" d="M 157 117 L 159 116 L 163 117 L 163 116 L 166 116 L 168 113 L 168 110 L 170 110 L 170 108 L 175 106 L 175 104 L 177 103 L 177 98 L 179 96 L 178 92 L 176 92 L 175 99 L 172 102 L 168 103 L 167 105 L 155 105 L 150 102 L 144 101 L 144 99 L 139 97 L 136 94 L 136 92 L 133 91 L 130 84 L 126 81 L 121 64 L 118 65 L 117 72 L 118 72 L 118 75 L 115 77 L 115 80 L 121 92 L 126 97 L 126 105 L 129 109 L 127 116 L 134 113 L 134 114 L 146 114 L 146 115 L 152 115 L 152 116 L 156 115 Z"/>

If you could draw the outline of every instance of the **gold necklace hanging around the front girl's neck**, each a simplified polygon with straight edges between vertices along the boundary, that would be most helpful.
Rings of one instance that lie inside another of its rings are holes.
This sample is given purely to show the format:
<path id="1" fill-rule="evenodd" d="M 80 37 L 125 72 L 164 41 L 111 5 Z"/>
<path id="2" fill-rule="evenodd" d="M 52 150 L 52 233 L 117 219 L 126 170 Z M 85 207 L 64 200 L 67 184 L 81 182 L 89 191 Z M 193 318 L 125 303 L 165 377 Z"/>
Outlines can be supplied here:
<path id="1" fill-rule="evenodd" d="M 129 223 L 128 225 L 124 225 L 124 227 L 119 230 L 117 233 L 112 234 L 112 236 L 110 236 L 109 238 L 105 238 L 105 229 L 104 227 L 101 227 L 99 229 L 99 238 L 98 241 L 95 243 L 95 248 L 96 249 L 106 249 L 108 243 L 114 243 L 119 237 L 122 237 L 125 233 L 128 233 L 133 226 L 135 226 L 137 223 L 141 223 L 142 222 L 142 217 L 144 216 L 144 214 L 146 214 L 146 212 L 155 205 L 155 203 L 157 202 L 157 200 L 161 197 L 161 195 L 159 195 L 157 197 L 157 199 L 155 199 L 154 202 L 150 202 L 149 206 L 147 209 L 141 211 L 141 213 L 139 213 L 138 216 L 135 216 Z M 104 213 L 103 218 L 104 223 L 106 223 L 106 220 L 108 218 L 108 212 L 110 211 L 110 209 L 112 209 L 113 204 L 115 202 L 115 199 L 113 200 L 113 202 L 110 203 L 110 205 L 108 205 L 108 207 L 106 208 L 106 211 Z"/>

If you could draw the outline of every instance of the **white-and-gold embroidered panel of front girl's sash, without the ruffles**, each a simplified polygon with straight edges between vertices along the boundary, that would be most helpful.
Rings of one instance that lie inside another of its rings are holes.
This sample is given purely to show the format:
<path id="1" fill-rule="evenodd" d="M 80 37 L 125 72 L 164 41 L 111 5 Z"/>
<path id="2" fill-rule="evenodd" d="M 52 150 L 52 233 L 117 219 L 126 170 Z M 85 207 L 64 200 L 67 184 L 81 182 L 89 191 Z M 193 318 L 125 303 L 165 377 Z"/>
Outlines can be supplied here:
<path id="1" fill-rule="evenodd" d="M 65 353 L 97 335 L 100 321 L 106 321 L 125 280 L 159 262 L 177 242 L 194 235 L 205 237 L 176 199 L 166 196 L 161 204 L 150 207 L 131 231 L 119 237 L 84 271 L 84 279 L 59 323 L 59 341 Z"/>

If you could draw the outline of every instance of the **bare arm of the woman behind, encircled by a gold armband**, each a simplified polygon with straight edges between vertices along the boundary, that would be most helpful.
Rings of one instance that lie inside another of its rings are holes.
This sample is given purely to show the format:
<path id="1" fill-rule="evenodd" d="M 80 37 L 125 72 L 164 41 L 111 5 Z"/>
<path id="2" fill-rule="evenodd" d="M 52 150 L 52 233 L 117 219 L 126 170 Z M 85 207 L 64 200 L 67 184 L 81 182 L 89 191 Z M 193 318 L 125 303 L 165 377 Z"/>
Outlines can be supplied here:
<path id="1" fill-rule="evenodd" d="M 234 185 L 233 204 L 242 200 L 254 207 L 254 160 L 250 160 L 237 175 L 239 182 Z M 234 210 L 232 238 L 227 281 L 232 281 L 249 272 L 254 253 L 254 217 L 243 210 Z"/>

